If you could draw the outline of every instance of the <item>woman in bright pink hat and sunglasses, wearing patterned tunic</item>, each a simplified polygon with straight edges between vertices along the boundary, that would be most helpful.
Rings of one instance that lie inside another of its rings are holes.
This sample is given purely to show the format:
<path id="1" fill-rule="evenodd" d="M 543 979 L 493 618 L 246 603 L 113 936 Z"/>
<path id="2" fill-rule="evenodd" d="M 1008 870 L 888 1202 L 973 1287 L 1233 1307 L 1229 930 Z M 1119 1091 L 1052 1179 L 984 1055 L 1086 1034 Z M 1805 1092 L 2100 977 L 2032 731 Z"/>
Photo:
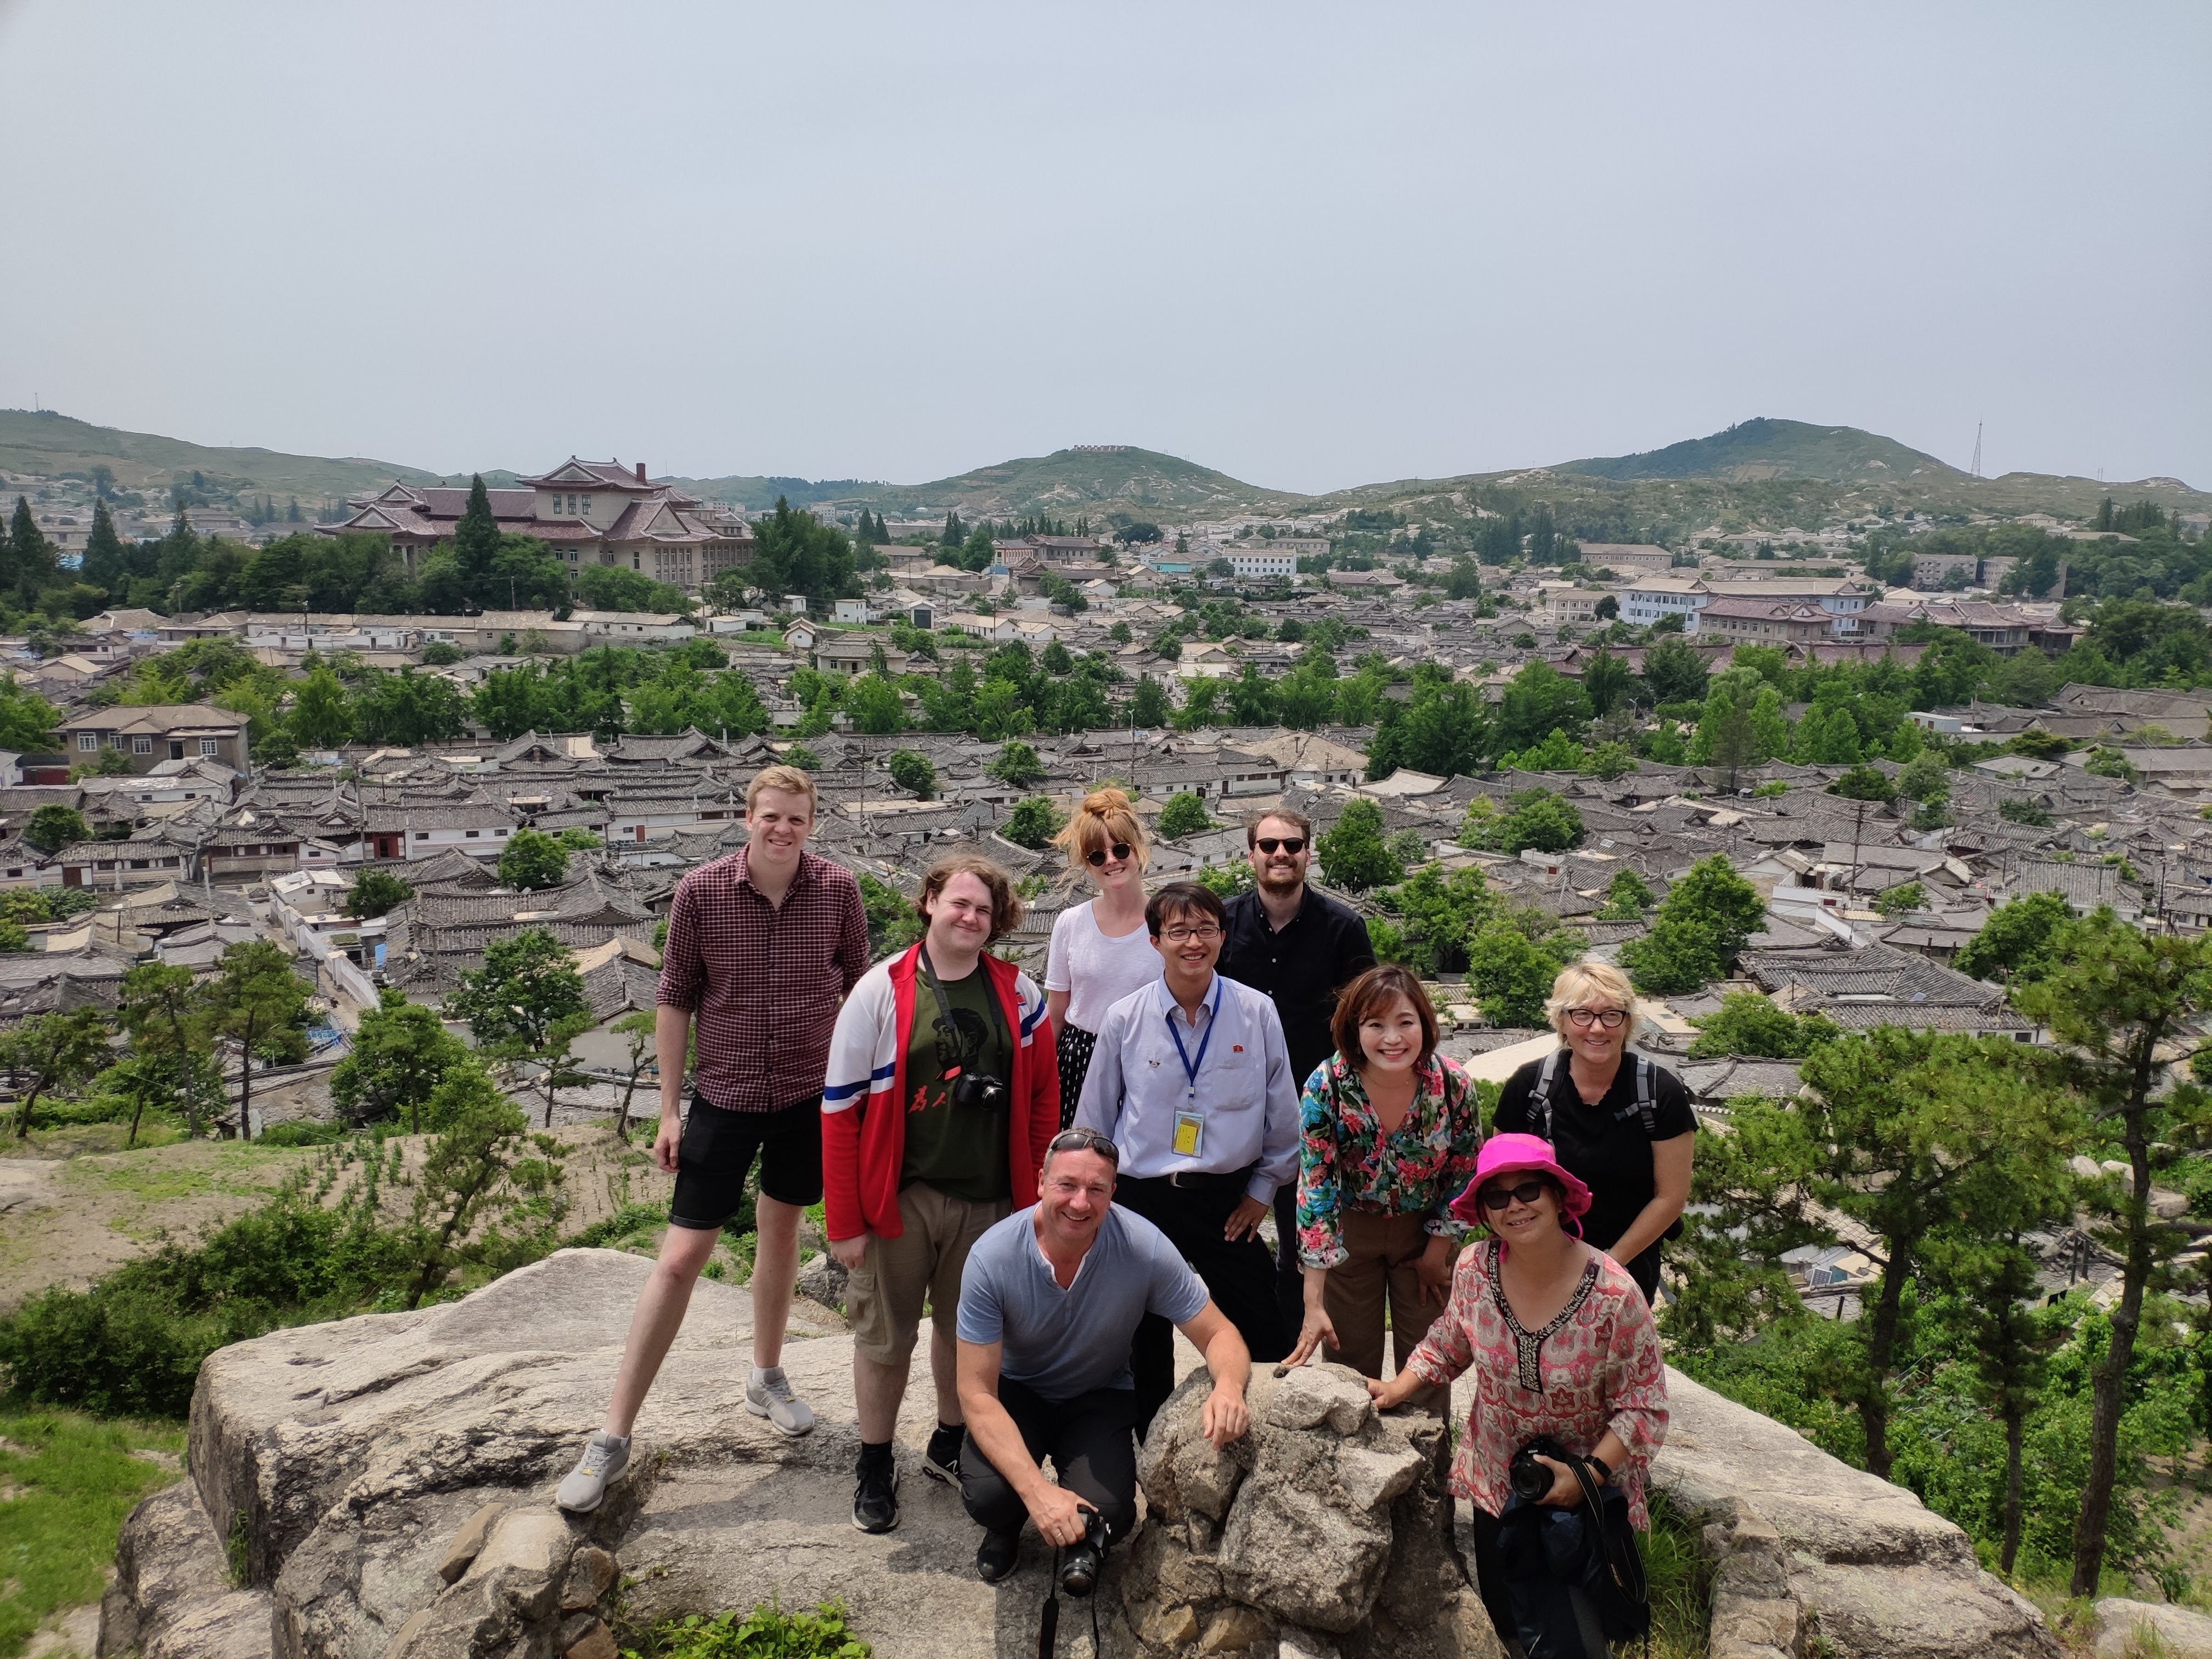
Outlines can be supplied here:
<path id="1" fill-rule="evenodd" d="M 1628 1495 L 1628 1517 L 1648 1528 L 1644 1478 L 1666 1440 L 1666 1367 L 1637 1281 L 1582 1241 L 1590 1188 L 1559 1168 L 1551 1141 L 1493 1135 L 1451 1208 L 1480 1217 L 1493 1237 L 1462 1252 L 1451 1301 L 1405 1369 L 1367 1391 L 1387 1409 L 1420 1387 L 1473 1376 L 1451 1489 L 1471 1506 L 1482 1601 L 1511 1639 L 1498 1520 L 1513 1495 L 1513 1453 L 1544 1433 L 1593 1458 L 1595 1473 Z M 1573 1471 L 1542 1462 L 1553 1484 L 1540 1502 L 1579 1504 Z"/>

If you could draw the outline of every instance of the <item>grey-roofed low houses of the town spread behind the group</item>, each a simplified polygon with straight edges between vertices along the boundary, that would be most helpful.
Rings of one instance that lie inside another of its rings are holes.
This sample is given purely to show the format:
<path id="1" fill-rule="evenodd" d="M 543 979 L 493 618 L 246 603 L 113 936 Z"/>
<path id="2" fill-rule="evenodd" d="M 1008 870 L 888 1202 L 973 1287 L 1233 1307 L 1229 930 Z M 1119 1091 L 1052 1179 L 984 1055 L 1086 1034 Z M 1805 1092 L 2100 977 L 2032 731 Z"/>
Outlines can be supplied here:
<path id="1" fill-rule="evenodd" d="M 785 690 L 794 668 L 865 670 L 887 646 L 887 635 L 869 624 L 896 617 L 987 641 L 1104 650 L 1130 679 L 1150 672 L 1170 695 L 1194 672 L 1237 672 L 1256 664 L 1276 675 L 1290 668 L 1294 646 L 1188 641 L 1179 659 L 1161 659 L 1146 644 L 1161 622 L 1179 615 L 1164 593 L 1188 593 L 1214 560 L 1230 560 L 1234 568 L 1221 577 L 1214 564 L 1214 586 L 1279 582 L 1296 568 L 1303 535 L 1314 531 L 1281 524 L 1261 540 L 1252 529 L 1250 522 L 1194 526 L 1186 549 L 1168 553 L 1172 544 L 1161 544 L 1137 564 L 1106 542 L 1031 538 L 1000 544 L 1000 560 L 982 573 L 938 564 L 931 549 L 894 546 L 887 549 L 894 577 L 887 591 L 878 584 L 869 599 L 838 602 L 827 615 L 801 613 L 796 622 L 790 606 L 697 617 L 591 611 L 566 617 L 161 617 L 150 611 L 93 617 L 69 655 L 42 661 L 18 653 L 13 664 L 20 684 L 64 708 L 64 757 L 0 754 L 7 785 L 0 787 L 7 836 L 0 841 L 0 885 L 91 887 L 113 898 L 88 916 L 33 929 L 31 953 L 0 956 L 0 1029 L 53 1009 L 113 1004 L 135 962 L 208 969 L 232 940 L 274 938 L 299 953 L 325 1022 L 314 1060 L 257 1077 L 254 1121 L 246 1126 L 257 1133 L 283 1117 L 332 1113 L 330 1066 L 343 1055 L 358 1013 L 376 1004 L 378 987 L 438 1002 L 465 967 L 482 960 L 491 940 L 544 927 L 575 953 L 597 1018 L 597 1029 L 575 1044 L 591 1082 L 560 1093 L 553 1121 L 606 1119 L 637 1075 L 633 1046 L 611 1024 L 655 1002 L 657 922 L 668 914 L 677 880 L 743 845 L 745 781 L 787 748 L 787 728 L 799 719 Z M 1398 595 L 1402 577 L 1389 568 L 1332 571 L 1296 577 L 1292 597 L 1281 597 L 1279 586 L 1272 588 L 1276 597 L 1245 586 L 1245 599 L 1270 617 L 1298 615 L 1307 624 L 1336 617 L 1365 630 L 1356 653 L 1380 650 L 1396 664 L 1440 661 L 1482 684 L 1491 699 L 1526 661 L 1579 675 L 1586 648 L 1575 630 L 1588 628 L 1606 593 L 1626 622 L 1650 624 L 1681 613 L 1688 637 L 1717 668 L 1736 644 L 1781 644 L 1792 657 L 1896 653 L 1909 661 L 1920 646 L 1896 644 L 1889 635 L 1918 617 L 1966 628 L 2000 650 L 2062 650 L 2073 635 L 2057 622 L 2055 606 L 1882 593 L 1851 575 L 1792 580 L 1790 566 L 1747 566 L 1730 560 L 1728 549 L 1705 557 L 1703 568 L 1677 568 L 1663 549 L 1639 546 L 1586 546 L 1584 560 L 1608 566 L 1613 580 L 1575 584 L 1544 573 L 1484 571 L 1491 599 L 1482 606 L 1467 599 L 1411 606 Z M 1086 611 L 1068 615 L 1040 597 L 1042 573 L 1053 566 L 1082 584 L 1091 599 Z M 980 597 L 993 606 L 975 608 Z M 1126 641 L 1113 637 L 1117 622 L 1130 624 Z M 307 650 L 352 650 L 376 666 L 418 666 L 425 646 L 442 641 L 469 655 L 427 672 L 473 686 L 524 653 L 650 646 L 695 633 L 710 633 L 728 650 L 732 670 L 754 681 L 776 721 L 770 734 L 688 730 L 593 739 L 529 732 L 504 743 L 478 734 L 422 750 L 356 745 L 272 772 L 254 768 L 243 719 L 221 708 L 102 708 L 91 699 L 139 655 L 206 637 L 232 637 L 268 664 L 294 666 Z M 1619 655 L 1639 666 L 1641 650 Z M 938 668 L 902 657 L 887 650 L 894 672 Z M 1194 792 L 1223 825 L 1159 843 L 1150 865 L 1155 880 L 1241 860 L 1248 814 L 1290 805 L 1325 832 L 1349 801 L 1365 796 L 1380 807 L 1389 834 L 1416 832 L 1447 869 L 1482 867 L 1493 889 L 1540 905 L 1582 931 L 1595 958 L 1610 958 L 1646 927 L 1597 920 L 1617 872 L 1637 872 L 1663 896 L 1692 863 L 1721 852 L 1765 894 L 1765 931 L 1743 953 L 1739 980 L 1655 1004 L 1644 1042 L 1681 1071 L 1710 1121 L 1725 1121 L 1732 1097 L 1794 1093 L 1796 1066 L 1688 1060 L 1690 1020 L 1717 1009 L 1723 993 L 1759 991 L 1845 1029 L 1898 1024 L 2046 1042 L 2044 1031 L 2006 1006 L 2000 987 L 1947 967 L 1995 905 L 2055 891 L 2077 911 L 2110 905 L 2143 925 L 2205 927 L 2212 920 L 2212 823 L 2199 807 L 2212 801 L 2212 748 L 2172 743 L 2168 734 L 2203 732 L 2208 712 L 2212 692 L 2066 686 L 2046 708 L 1916 714 L 1933 730 L 1966 737 L 2002 739 L 2042 728 L 2079 745 L 2115 745 L 2141 774 L 2139 785 L 2093 776 L 2077 763 L 2079 754 L 2064 763 L 1984 761 L 1953 776 L 1953 823 L 1929 832 L 1909 830 L 1885 807 L 1823 794 L 1820 785 L 1845 768 L 1772 763 L 1723 781 L 1712 770 L 1644 761 L 1613 781 L 1407 770 L 1369 781 L 1371 728 L 1031 737 L 1046 779 L 1026 787 L 993 779 L 989 768 L 1000 745 L 964 734 L 834 730 L 810 737 L 807 748 L 821 761 L 823 794 L 814 849 L 902 894 L 914 894 L 922 869 L 949 852 L 1000 860 L 1024 878 L 1024 891 L 1035 894 L 1020 931 L 1002 947 L 1031 973 L 1042 973 L 1053 918 L 1084 894 L 1071 885 L 1055 852 L 1015 845 L 1000 827 L 1020 796 L 1046 794 L 1068 807 L 1104 779 L 1133 785 L 1146 818 L 1155 818 L 1172 794 Z M 2146 726 L 2163 728 L 2159 737 L 2168 741 L 2130 748 L 2128 734 Z M 100 748 L 126 752 L 133 770 L 66 781 L 66 761 Z M 918 801 L 889 783 L 885 759 L 894 748 L 929 757 L 936 799 Z M 1878 765 L 1896 770 L 1887 761 Z M 1770 781 L 1801 787 L 1756 794 L 1756 785 Z M 1575 852 L 1506 858 L 1458 845 L 1473 796 L 1502 803 L 1528 787 L 1573 799 L 1586 825 Z M 2051 825 L 2000 816 L 2006 801 L 2039 805 Z M 29 847 L 20 832 L 49 803 L 77 807 L 100 838 L 51 856 Z M 586 830 L 604 845 L 575 854 L 564 885 L 518 894 L 500 887 L 498 854 L 522 827 Z M 343 914 L 343 902 L 367 865 L 403 874 L 414 898 L 385 918 L 356 922 Z M 1325 880 L 1325 869 L 1316 867 L 1316 876 Z M 1929 907 L 1882 916 L 1874 900 L 1902 883 L 1920 883 Z M 1365 896 L 1340 896 L 1374 907 Z M 1447 1048 L 1495 1075 L 1546 1042 L 1537 1031 L 1489 1026 L 1451 982 L 1438 984 L 1433 995 L 1444 1011 Z M 239 1126 L 228 1128 L 237 1133 Z M 2057 1254 L 2064 1250 L 2055 1248 L 2053 1259 Z M 2081 1241 L 2079 1265 L 2095 1267 L 2090 1254 Z M 1807 1294 L 1847 1292 L 1854 1283 L 1854 1263 L 1827 1256 L 1803 1263 Z"/>

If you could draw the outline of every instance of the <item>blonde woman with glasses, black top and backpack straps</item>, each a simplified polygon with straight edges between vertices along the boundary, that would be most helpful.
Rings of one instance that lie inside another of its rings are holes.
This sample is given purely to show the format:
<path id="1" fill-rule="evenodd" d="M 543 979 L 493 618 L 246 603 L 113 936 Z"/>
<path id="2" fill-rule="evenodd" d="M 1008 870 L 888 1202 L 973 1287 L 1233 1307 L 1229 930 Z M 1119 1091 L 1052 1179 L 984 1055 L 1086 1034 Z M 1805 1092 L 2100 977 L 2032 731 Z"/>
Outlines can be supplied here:
<path id="1" fill-rule="evenodd" d="M 1537 1135 L 1590 1188 L 1582 1237 L 1659 1296 L 1659 1241 L 1681 1232 L 1697 1117 L 1681 1077 L 1630 1053 L 1637 993 L 1610 962 L 1571 962 L 1544 1004 L 1559 1048 L 1515 1071 L 1498 1135 Z"/>

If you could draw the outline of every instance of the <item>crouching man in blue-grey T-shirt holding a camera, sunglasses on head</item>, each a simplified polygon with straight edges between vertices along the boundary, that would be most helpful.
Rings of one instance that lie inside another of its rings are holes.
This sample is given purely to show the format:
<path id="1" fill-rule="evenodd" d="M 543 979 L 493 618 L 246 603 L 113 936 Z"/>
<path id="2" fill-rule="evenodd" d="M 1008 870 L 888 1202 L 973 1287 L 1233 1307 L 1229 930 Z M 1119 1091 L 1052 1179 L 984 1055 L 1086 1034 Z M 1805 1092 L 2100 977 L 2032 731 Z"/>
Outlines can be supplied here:
<path id="1" fill-rule="evenodd" d="M 1113 1201 L 1119 1150 L 1086 1128 L 1053 1137 L 1037 1206 L 975 1241 L 960 1281 L 960 1498 L 984 1526 L 975 1573 L 1013 1571 L 1022 1520 L 1068 1551 L 1075 1573 L 1084 1511 L 1108 1537 L 1137 1524 L 1137 1391 L 1130 1338 L 1146 1314 L 1177 1325 L 1206 1356 L 1214 1387 L 1199 1418 L 1225 1447 L 1250 1427 L 1252 1358 L 1168 1237 Z M 1051 1458 L 1060 1484 L 1044 1478 Z M 1097 1562 L 1091 1562 L 1091 1579 Z"/>

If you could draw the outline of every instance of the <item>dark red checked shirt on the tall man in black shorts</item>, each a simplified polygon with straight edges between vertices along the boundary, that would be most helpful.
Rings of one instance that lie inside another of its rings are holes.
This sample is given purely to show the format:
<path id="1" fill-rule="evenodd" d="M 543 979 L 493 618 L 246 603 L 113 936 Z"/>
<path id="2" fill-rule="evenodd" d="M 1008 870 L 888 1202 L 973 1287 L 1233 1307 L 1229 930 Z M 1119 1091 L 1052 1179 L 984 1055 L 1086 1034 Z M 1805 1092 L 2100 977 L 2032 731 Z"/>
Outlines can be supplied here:
<path id="1" fill-rule="evenodd" d="M 659 1004 L 699 1018 L 699 1099 L 768 1113 L 823 1093 L 838 1002 L 867 973 L 867 911 L 852 872 L 812 852 L 770 905 L 745 854 L 677 883 Z"/>

